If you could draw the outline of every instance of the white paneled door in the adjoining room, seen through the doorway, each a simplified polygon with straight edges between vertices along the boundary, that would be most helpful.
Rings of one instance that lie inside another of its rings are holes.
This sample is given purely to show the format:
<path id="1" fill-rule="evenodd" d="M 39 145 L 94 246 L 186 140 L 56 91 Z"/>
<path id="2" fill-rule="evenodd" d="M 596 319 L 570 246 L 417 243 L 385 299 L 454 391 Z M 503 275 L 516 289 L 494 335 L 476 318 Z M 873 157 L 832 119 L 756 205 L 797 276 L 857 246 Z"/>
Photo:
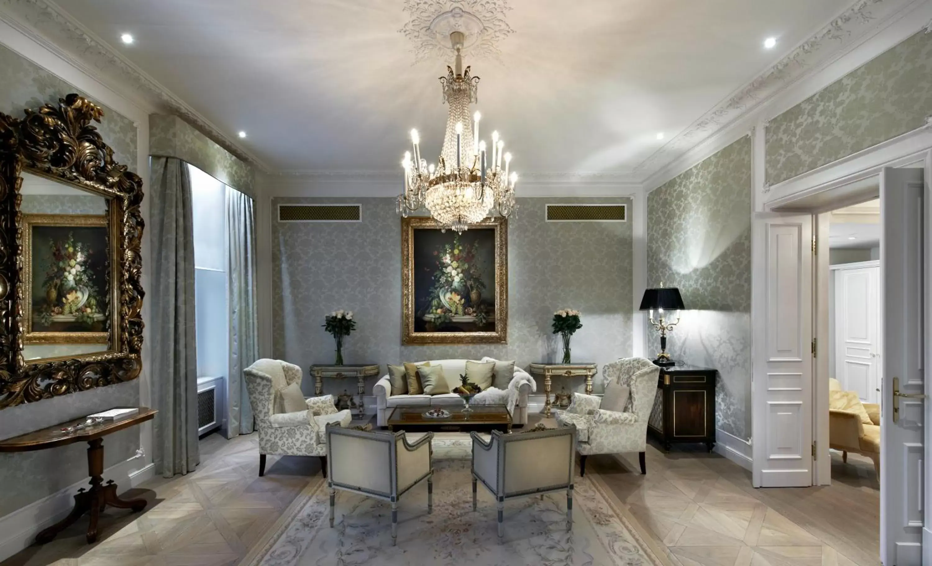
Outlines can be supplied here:
<path id="1" fill-rule="evenodd" d="M 832 266 L 835 272 L 835 371 L 865 403 L 880 396 L 880 265 Z"/>

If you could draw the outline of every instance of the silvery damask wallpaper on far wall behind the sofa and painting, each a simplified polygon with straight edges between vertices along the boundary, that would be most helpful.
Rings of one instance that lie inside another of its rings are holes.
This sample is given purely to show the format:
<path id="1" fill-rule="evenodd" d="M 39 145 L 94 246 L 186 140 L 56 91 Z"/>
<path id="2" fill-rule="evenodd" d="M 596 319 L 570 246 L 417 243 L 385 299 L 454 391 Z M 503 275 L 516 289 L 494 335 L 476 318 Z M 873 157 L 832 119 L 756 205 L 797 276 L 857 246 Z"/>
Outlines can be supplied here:
<path id="1" fill-rule="evenodd" d="M 305 371 L 311 363 L 333 362 L 334 341 L 321 325 L 324 314 L 341 308 L 357 321 L 344 342 L 346 362 L 377 362 L 382 371 L 387 363 L 449 357 L 515 359 L 524 368 L 559 361 L 550 322 L 562 307 L 583 312 L 583 329 L 572 340 L 574 360 L 601 367 L 631 355 L 631 223 L 544 221 L 548 203 L 630 199 L 519 198 L 508 227 L 508 344 L 436 346 L 401 345 L 401 220 L 394 199 L 279 198 L 272 209 L 294 202 L 363 205 L 358 223 L 273 219 L 274 356 Z M 375 382 L 366 384 L 366 395 Z M 327 393 L 355 390 L 355 384 L 326 385 Z M 583 382 L 570 387 L 582 391 Z M 304 388 L 313 390 L 309 379 Z"/>

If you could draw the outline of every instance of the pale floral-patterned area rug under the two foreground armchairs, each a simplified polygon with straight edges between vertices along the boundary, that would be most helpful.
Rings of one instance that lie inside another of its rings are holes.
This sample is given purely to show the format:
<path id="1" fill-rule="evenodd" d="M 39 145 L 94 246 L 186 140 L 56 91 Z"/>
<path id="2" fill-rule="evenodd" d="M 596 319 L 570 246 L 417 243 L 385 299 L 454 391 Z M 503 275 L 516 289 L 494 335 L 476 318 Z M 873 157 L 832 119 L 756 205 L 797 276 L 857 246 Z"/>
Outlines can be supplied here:
<path id="1" fill-rule="evenodd" d="M 473 512 L 469 460 L 434 460 L 433 513 L 422 482 L 399 502 L 398 546 L 391 546 L 391 506 L 349 492 L 336 494 L 328 526 L 325 481 L 308 488 L 293 519 L 281 521 L 253 563 L 268 566 L 407 564 L 482 566 L 547 564 L 659 565 L 661 560 L 591 478 L 576 478 L 573 530 L 566 495 L 505 503 L 505 536 L 496 534 L 495 501 L 482 486 Z M 244 560 L 244 564 L 250 563 Z"/>

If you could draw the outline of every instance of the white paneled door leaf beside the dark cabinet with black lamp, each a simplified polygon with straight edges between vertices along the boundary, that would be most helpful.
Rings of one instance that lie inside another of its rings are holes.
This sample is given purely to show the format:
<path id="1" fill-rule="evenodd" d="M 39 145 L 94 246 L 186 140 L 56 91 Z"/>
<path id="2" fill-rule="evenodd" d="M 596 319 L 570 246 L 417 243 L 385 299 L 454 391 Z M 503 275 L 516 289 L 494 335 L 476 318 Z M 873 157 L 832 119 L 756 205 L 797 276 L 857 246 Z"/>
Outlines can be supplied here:
<path id="1" fill-rule="evenodd" d="M 813 220 L 754 222 L 754 485 L 812 485 Z"/>

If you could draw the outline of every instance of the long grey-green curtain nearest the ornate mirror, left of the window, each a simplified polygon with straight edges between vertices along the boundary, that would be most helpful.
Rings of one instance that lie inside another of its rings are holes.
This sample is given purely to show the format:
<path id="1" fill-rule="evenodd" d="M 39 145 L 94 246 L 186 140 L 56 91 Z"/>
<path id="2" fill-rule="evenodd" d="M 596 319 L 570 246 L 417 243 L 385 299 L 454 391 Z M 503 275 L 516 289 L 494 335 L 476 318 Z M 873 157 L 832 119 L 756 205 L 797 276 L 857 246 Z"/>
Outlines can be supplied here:
<path id="1" fill-rule="evenodd" d="M 198 358 L 191 178 L 184 161 L 152 157 L 149 238 L 152 284 L 153 454 L 162 476 L 194 471 L 198 449 Z"/>

